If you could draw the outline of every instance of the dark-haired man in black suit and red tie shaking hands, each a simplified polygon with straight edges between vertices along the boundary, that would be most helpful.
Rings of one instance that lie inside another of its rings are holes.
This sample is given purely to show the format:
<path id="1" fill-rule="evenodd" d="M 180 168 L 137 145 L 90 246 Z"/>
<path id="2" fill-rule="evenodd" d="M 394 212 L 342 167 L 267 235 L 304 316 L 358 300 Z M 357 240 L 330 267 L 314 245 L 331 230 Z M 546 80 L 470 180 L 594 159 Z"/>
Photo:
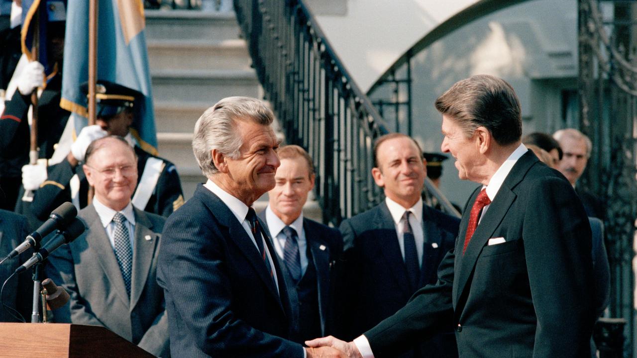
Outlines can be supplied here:
<path id="1" fill-rule="evenodd" d="M 441 149 L 469 197 L 438 282 L 353 342 L 308 341 L 350 357 L 395 357 L 452 323 L 463 358 L 590 357 L 596 318 L 589 220 L 573 187 L 521 143 L 520 102 L 476 75 L 436 100 Z"/>

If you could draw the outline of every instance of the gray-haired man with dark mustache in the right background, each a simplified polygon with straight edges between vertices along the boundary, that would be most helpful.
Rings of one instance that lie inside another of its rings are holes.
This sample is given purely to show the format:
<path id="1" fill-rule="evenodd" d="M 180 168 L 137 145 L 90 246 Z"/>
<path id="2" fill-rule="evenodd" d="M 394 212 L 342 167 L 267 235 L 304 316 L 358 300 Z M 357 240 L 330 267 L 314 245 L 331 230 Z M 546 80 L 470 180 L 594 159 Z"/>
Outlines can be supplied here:
<path id="1" fill-rule="evenodd" d="M 576 185 L 577 180 L 586 169 L 586 164 L 590 158 L 592 143 L 590 139 L 573 128 L 560 129 L 553 134 L 553 138 L 559 142 L 562 148 L 562 160 L 559 162 L 558 170 L 566 176 L 569 183 L 575 188 L 575 192 L 582 200 L 584 209 L 589 217 L 596 217 L 604 220 L 606 208 L 603 201 L 594 194 Z"/>

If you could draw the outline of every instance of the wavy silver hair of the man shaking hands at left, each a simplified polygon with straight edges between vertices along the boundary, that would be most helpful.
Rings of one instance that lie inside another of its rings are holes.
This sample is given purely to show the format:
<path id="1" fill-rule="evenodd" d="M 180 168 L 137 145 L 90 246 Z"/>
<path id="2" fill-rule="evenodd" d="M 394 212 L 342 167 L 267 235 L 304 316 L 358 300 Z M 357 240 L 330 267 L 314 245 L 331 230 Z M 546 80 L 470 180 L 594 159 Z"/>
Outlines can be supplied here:
<path id="1" fill-rule="evenodd" d="M 219 172 L 212 161 L 212 150 L 236 159 L 243 144 L 236 121 L 246 120 L 270 125 L 274 115 L 265 103 L 250 97 L 225 97 L 204 111 L 195 124 L 192 152 L 201 172 L 207 178 Z"/>

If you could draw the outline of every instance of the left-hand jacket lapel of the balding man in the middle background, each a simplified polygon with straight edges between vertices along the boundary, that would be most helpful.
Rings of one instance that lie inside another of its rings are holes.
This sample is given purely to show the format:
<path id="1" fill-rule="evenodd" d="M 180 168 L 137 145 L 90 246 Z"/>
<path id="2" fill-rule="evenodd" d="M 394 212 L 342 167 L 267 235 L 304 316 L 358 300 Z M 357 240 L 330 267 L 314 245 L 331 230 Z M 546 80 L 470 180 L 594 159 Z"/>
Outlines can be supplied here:
<path id="1" fill-rule="evenodd" d="M 394 278 L 399 287 L 403 289 L 406 296 L 411 296 L 409 287 L 410 283 L 407 280 L 407 269 L 404 266 L 403 254 L 400 250 L 398 243 L 398 236 L 396 235 L 396 225 L 392 220 L 392 215 L 389 213 L 387 203 L 383 201 L 378 207 L 379 211 L 376 213 L 375 227 L 380 231 L 380 235 L 375 235 L 376 248 L 387 260 L 387 266 L 389 271 L 392 272 Z M 385 234 L 386 233 L 386 234 Z"/>

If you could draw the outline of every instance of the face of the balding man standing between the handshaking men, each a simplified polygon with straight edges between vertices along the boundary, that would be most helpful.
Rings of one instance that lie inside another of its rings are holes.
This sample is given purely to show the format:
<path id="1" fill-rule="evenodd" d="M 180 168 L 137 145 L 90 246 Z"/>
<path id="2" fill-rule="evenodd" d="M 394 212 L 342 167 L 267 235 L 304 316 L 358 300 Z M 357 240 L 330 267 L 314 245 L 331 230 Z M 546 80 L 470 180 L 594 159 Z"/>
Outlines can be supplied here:
<path id="1" fill-rule="evenodd" d="M 385 196 L 410 208 L 422 192 L 426 163 L 410 138 L 385 140 L 378 147 L 378 168 L 372 169 L 376 185 L 385 189 Z"/>

